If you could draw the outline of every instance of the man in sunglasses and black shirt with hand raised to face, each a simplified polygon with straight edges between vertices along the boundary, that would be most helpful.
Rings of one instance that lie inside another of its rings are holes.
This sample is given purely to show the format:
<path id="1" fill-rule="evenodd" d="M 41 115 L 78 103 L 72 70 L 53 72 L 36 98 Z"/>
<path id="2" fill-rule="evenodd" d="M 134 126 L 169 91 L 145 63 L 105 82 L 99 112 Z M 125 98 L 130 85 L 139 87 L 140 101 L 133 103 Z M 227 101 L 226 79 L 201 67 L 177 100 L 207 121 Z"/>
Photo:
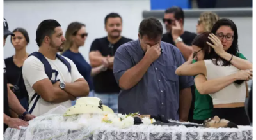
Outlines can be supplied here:
<path id="1" fill-rule="evenodd" d="M 173 6 L 166 9 L 163 22 L 167 32 L 163 34 L 162 41 L 177 46 L 184 59 L 188 60 L 193 52 L 191 43 L 196 34 L 184 31 L 184 12 L 182 8 Z"/>

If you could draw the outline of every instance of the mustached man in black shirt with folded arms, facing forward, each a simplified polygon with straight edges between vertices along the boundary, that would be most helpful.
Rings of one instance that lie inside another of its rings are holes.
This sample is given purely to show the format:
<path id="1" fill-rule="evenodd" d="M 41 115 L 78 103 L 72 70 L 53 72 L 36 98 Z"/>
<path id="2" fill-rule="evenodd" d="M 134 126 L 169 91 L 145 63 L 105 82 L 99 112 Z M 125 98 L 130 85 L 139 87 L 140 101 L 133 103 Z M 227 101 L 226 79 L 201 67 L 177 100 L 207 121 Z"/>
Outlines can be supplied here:
<path id="1" fill-rule="evenodd" d="M 109 62 L 108 69 L 93 77 L 93 85 L 95 96 L 117 113 L 117 98 L 120 88 L 113 75 L 114 55 L 119 46 L 131 41 L 131 39 L 121 36 L 122 18 L 117 13 L 110 13 L 106 16 L 105 29 L 108 36 L 93 41 L 89 59 L 92 67 L 100 66 L 102 61 Z"/>

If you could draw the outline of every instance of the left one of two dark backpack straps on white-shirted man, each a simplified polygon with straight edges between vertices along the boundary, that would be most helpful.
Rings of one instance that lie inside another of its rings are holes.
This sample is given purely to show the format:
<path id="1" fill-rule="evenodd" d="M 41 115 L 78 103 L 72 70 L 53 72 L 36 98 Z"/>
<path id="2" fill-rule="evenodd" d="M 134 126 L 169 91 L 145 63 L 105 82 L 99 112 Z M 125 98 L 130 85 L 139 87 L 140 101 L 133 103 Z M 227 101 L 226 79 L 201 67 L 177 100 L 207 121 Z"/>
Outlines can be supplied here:
<path id="1" fill-rule="evenodd" d="M 52 67 L 51 65 L 49 64 L 48 60 L 45 59 L 44 55 L 42 55 L 42 53 L 40 52 L 33 52 L 31 53 L 28 57 L 30 56 L 35 56 L 37 59 L 39 59 L 43 64 L 44 64 L 44 70 L 45 70 L 45 74 L 47 74 L 49 80 L 51 80 L 52 78 Z M 31 101 L 33 101 L 33 99 L 35 99 L 35 102 L 32 106 L 32 108 L 29 110 L 29 113 L 31 114 L 36 106 L 36 103 L 38 102 L 38 100 L 40 99 L 40 95 L 38 95 L 37 93 L 35 93 L 32 98 L 31 98 Z"/>

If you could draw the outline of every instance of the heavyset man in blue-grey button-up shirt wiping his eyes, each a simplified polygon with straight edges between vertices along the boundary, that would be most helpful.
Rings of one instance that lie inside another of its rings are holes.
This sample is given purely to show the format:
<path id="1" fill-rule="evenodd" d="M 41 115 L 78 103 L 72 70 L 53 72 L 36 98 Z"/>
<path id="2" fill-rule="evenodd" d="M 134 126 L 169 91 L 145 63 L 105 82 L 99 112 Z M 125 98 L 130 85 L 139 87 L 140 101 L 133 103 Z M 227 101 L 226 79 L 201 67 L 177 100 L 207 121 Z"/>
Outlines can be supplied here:
<path id="1" fill-rule="evenodd" d="M 162 34 L 161 23 L 147 18 L 140 23 L 139 39 L 116 50 L 113 73 L 122 89 L 118 112 L 186 121 L 193 77 L 175 74 L 184 57 L 178 48 L 161 41 Z"/>

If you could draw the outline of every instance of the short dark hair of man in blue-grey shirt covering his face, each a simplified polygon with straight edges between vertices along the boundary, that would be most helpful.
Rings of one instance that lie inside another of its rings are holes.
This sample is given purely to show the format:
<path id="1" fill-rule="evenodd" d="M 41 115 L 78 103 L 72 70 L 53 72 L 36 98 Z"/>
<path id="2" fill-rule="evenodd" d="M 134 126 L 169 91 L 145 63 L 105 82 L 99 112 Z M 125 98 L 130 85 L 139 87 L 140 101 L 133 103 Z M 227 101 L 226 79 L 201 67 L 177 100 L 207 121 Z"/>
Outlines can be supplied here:
<path id="1" fill-rule="evenodd" d="M 139 34 L 141 38 L 148 36 L 149 39 L 155 39 L 163 34 L 163 26 L 156 18 L 146 18 L 140 22 Z"/>

